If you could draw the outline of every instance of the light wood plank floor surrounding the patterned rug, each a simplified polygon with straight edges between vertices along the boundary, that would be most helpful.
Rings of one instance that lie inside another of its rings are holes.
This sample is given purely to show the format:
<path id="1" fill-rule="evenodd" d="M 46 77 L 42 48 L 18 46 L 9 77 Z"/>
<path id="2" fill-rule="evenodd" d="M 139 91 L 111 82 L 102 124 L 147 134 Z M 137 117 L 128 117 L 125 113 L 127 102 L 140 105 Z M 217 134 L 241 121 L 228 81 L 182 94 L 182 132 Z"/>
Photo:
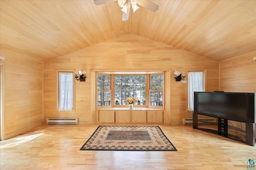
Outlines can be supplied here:
<path id="1" fill-rule="evenodd" d="M 159 125 L 177 152 L 79 150 L 98 125 L 109 124 L 41 125 L 1 141 L 0 169 L 246 170 L 248 159 L 256 160 L 255 147 L 191 125 Z"/>

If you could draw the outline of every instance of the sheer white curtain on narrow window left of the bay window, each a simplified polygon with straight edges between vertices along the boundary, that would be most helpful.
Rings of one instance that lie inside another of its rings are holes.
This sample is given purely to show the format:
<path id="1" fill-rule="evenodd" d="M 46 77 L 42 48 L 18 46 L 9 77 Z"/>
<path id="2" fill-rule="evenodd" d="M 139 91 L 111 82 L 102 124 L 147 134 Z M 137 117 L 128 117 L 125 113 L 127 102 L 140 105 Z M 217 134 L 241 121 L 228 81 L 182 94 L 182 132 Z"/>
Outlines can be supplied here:
<path id="1" fill-rule="evenodd" d="M 59 108 L 58 111 L 73 109 L 73 73 L 59 72 Z"/>

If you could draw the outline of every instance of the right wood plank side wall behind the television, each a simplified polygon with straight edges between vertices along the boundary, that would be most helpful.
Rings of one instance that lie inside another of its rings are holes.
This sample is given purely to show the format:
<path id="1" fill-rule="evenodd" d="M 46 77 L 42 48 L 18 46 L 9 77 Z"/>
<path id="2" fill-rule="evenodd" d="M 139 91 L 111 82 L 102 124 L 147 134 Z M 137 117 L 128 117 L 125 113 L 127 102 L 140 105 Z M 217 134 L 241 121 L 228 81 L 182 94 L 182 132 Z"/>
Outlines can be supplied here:
<path id="1" fill-rule="evenodd" d="M 224 92 L 256 93 L 256 51 L 220 62 L 220 90 Z M 245 129 L 245 123 L 231 121 L 230 125 Z M 256 128 L 255 128 L 256 134 Z"/>

